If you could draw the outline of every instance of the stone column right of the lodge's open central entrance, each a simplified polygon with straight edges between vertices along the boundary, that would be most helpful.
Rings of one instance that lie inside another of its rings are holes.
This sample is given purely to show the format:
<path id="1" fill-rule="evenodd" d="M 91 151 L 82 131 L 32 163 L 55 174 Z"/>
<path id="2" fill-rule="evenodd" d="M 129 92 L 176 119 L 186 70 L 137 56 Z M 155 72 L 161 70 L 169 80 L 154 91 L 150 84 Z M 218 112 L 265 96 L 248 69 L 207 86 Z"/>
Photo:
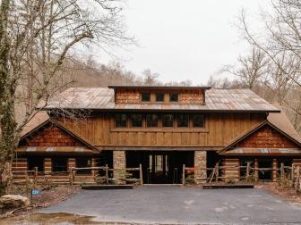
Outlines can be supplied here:
<path id="1" fill-rule="evenodd" d="M 194 151 L 194 182 L 195 184 L 206 183 L 207 171 L 202 168 L 207 167 L 206 151 Z"/>

